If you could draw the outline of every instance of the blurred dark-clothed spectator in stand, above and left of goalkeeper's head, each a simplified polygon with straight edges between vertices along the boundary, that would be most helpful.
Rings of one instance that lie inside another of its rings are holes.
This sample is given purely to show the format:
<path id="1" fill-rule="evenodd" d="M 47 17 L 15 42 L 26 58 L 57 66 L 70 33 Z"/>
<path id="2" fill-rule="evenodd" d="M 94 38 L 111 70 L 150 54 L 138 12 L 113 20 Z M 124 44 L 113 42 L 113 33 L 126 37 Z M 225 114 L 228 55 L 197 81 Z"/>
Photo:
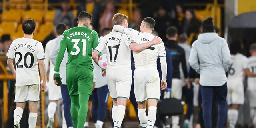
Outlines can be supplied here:
<path id="1" fill-rule="evenodd" d="M 54 14 L 54 26 L 60 22 L 64 22 L 67 28 L 73 27 L 74 13 L 68 6 L 68 0 L 60 0 L 60 8 Z"/>

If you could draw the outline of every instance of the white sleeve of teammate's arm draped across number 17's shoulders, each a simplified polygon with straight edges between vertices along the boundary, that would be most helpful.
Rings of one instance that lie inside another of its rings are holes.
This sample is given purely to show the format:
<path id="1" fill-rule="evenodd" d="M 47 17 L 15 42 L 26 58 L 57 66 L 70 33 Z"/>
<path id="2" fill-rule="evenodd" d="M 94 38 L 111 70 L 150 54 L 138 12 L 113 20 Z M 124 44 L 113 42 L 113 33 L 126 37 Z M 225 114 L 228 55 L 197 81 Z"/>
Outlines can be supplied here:
<path id="1" fill-rule="evenodd" d="M 116 32 L 116 31 L 123 32 L 125 34 L 129 34 L 130 36 L 132 36 L 134 38 L 140 34 L 140 32 L 135 30 L 135 29 L 126 28 L 126 27 L 123 27 L 123 26 L 120 26 L 120 25 L 114 25 L 112 31 L 114 31 L 114 32 Z"/>

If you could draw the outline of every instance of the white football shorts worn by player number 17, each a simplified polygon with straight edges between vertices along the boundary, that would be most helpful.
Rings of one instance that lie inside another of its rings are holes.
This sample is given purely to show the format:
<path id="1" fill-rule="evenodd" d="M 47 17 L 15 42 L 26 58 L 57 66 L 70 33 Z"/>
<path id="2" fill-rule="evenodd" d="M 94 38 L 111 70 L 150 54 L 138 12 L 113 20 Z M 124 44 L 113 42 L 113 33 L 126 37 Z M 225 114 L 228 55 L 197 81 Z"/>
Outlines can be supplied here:
<path id="1" fill-rule="evenodd" d="M 107 84 L 112 99 L 130 97 L 132 70 L 130 68 L 107 69 Z"/>

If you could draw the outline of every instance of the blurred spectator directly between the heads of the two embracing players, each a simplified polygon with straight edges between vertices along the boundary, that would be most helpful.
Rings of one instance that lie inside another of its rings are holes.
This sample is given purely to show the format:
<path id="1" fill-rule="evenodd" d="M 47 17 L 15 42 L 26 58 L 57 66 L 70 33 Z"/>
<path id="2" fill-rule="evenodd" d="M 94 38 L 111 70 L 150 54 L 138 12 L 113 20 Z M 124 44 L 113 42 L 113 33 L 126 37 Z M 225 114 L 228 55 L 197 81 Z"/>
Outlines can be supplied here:
<path id="1" fill-rule="evenodd" d="M 140 31 L 140 23 L 142 22 L 141 12 L 139 8 L 135 8 L 133 11 L 132 19 L 128 21 L 128 26 L 137 31 Z"/>

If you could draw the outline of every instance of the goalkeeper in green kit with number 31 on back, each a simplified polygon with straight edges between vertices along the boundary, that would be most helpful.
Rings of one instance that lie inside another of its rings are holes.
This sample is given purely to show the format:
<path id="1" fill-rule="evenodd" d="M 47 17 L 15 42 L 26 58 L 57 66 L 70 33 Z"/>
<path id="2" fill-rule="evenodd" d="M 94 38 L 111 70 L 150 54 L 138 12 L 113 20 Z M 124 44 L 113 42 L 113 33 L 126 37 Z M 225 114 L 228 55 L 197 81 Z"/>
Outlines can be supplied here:
<path id="1" fill-rule="evenodd" d="M 70 28 L 63 33 L 54 68 L 55 73 L 59 72 L 60 63 L 67 48 L 66 80 L 71 98 L 71 116 L 74 128 L 84 128 L 88 100 L 92 94 L 92 49 L 95 49 L 99 42 L 97 32 L 88 28 L 91 20 L 91 14 L 85 11 L 80 12 L 78 27 Z M 54 83 L 57 84 L 55 79 Z"/>

